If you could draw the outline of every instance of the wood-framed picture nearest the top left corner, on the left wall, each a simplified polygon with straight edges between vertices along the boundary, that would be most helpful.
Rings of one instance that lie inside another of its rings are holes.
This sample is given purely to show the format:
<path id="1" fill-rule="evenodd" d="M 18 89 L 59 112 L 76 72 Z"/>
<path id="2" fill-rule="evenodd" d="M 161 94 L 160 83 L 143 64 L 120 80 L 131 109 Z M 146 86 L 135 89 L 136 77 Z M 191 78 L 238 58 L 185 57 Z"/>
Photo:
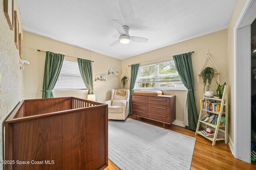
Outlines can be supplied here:
<path id="1" fill-rule="evenodd" d="M 4 0 L 4 14 L 6 17 L 6 20 L 8 22 L 8 25 L 11 30 L 13 30 L 14 24 L 13 24 L 13 0 Z"/>

